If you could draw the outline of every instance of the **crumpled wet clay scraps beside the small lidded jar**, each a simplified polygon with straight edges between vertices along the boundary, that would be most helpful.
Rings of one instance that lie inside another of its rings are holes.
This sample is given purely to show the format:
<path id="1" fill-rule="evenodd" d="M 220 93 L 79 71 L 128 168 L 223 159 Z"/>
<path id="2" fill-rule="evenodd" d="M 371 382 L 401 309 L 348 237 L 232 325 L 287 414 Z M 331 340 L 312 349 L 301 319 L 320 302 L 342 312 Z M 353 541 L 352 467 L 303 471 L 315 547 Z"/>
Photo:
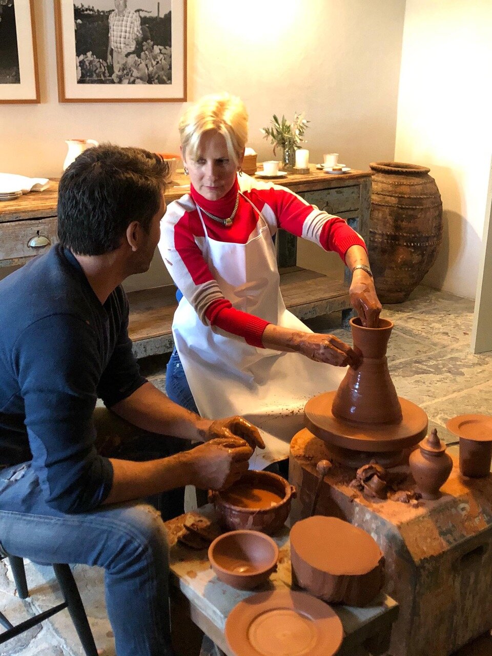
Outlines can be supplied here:
<path id="1" fill-rule="evenodd" d="M 390 499 L 416 505 L 422 498 L 419 492 L 400 489 L 407 472 L 389 472 L 376 461 L 364 464 L 357 470 L 356 478 L 348 485 L 372 499 Z"/>

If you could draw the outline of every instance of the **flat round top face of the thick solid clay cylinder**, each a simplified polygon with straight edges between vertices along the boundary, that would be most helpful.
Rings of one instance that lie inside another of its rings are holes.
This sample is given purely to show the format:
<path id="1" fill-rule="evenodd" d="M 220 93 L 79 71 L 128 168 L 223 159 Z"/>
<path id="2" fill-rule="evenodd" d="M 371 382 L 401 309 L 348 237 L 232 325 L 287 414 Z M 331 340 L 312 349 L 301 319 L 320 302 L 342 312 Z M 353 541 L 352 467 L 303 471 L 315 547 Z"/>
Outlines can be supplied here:
<path id="1" fill-rule="evenodd" d="M 291 546 L 304 562 L 331 575 L 371 571 L 382 557 L 377 542 L 358 526 L 316 515 L 295 523 Z"/>

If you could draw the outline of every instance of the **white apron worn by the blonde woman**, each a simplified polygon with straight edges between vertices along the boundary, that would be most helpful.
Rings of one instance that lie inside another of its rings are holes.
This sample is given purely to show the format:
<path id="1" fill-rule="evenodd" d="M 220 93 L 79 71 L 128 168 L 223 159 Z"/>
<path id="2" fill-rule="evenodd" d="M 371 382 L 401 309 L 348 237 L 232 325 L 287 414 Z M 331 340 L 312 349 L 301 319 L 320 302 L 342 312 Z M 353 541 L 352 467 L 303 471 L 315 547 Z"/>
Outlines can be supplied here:
<path id="1" fill-rule="evenodd" d="M 268 224 L 241 196 L 259 215 L 245 244 L 211 239 L 197 208 L 205 231 L 205 261 L 236 310 L 312 332 L 285 308 Z M 204 325 L 184 297 L 174 313 L 173 337 L 199 413 L 209 419 L 242 415 L 260 429 L 266 449 L 255 450 L 252 469 L 289 457 L 289 442 L 304 427 L 306 401 L 337 389 L 346 371 L 298 353 L 256 348 L 241 337 Z"/>

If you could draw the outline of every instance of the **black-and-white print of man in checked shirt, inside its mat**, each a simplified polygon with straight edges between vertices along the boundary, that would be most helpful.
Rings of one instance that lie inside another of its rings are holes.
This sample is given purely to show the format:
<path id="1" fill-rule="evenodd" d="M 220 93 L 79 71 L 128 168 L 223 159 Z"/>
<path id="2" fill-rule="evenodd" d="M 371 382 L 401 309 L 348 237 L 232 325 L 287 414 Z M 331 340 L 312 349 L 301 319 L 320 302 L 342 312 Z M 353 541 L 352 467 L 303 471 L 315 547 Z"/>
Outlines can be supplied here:
<path id="1" fill-rule="evenodd" d="M 73 18 L 78 84 L 173 82 L 171 0 L 74 1 Z"/>

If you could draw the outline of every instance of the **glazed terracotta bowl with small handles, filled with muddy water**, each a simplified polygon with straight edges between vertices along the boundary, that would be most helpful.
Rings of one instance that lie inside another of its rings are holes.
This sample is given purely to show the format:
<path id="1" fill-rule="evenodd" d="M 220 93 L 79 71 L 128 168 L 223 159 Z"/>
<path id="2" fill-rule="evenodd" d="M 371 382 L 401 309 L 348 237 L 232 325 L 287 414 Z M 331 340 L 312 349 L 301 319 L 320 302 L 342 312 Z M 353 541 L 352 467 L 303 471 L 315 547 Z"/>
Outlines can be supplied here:
<path id="1" fill-rule="evenodd" d="M 283 525 L 291 510 L 295 487 L 272 472 L 251 470 L 231 487 L 212 491 L 218 520 L 227 529 L 261 531 L 271 535 Z"/>

